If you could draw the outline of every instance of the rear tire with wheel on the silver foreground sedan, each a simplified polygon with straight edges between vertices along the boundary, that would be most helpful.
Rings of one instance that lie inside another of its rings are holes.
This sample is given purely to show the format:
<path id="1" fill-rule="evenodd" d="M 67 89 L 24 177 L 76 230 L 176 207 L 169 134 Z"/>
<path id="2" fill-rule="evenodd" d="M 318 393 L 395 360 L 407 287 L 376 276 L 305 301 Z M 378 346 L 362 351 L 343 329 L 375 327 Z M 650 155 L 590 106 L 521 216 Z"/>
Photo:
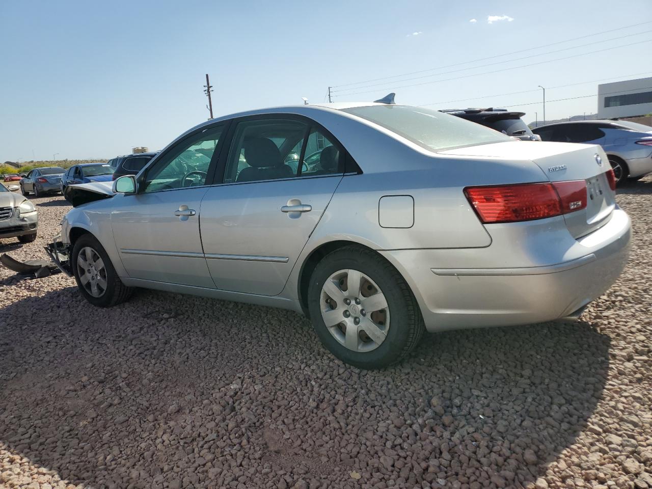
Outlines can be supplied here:
<path id="1" fill-rule="evenodd" d="M 359 292 L 349 293 L 349 276 Z M 368 301 L 378 294 L 384 301 Z M 370 310 L 378 304 L 385 307 L 366 312 L 365 303 Z M 308 312 L 323 346 L 344 363 L 365 369 L 402 361 L 425 331 L 419 304 L 401 274 L 360 246 L 340 248 L 319 261 L 308 286 Z M 333 325 L 340 317 L 342 322 Z"/>

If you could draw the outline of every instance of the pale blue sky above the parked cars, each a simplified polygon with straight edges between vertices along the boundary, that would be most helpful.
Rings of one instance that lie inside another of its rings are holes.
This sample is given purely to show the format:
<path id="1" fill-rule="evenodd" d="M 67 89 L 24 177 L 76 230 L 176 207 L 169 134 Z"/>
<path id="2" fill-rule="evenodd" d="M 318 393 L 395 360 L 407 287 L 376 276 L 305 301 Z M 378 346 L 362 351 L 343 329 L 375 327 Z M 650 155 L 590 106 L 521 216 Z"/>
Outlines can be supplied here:
<path id="1" fill-rule="evenodd" d="M 404 78 L 475 67 L 450 74 L 340 87 L 349 90 L 334 91 L 333 100 L 374 100 L 395 90 L 397 102 L 428 104 L 534 90 L 429 106 L 513 105 L 529 122 L 535 111 L 542 117 L 541 104 L 522 105 L 541 100 L 537 85 L 652 76 L 652 32 L 644 32 L 652 23 L 532 48 L 647 21 L 650 0 L 3 1 L 0 162 L 52 159 L 53 153 L 57 159 L 110 158 L 136 145 L 161 149 L 207 119 L 205 73 L 214 85 L 215 114 L 222 115 L 297 104 L 302 96 L 323 102 L 329 85 L 526 50 Z M 616 37 L 623 38 L 599 42 Z M 589 43 L 595 44 L 539 55 Z M 509 61 L 530 55 L 539 56 Z M 447 78 L 458 79 L 402 87 Z M 546 98 L 595 94 L 597 83 L 548 89 Z M 596 109 L 595 96 L 549 102 L 546 118 Z"/>

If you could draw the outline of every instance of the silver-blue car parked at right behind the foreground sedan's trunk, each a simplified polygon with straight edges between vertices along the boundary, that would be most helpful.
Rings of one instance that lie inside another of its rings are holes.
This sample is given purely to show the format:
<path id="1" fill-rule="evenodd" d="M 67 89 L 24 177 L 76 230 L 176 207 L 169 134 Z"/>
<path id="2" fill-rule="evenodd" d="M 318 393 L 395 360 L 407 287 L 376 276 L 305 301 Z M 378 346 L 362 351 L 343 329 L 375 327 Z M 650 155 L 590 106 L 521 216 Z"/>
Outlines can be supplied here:
<path id="1" fill-rule="evenodd" d="M 629 121 L 578 121 L 532 130 L 543 141 L 599 144 L 614 169 L 617 184 L 652 173 L 652 127 Z"/>

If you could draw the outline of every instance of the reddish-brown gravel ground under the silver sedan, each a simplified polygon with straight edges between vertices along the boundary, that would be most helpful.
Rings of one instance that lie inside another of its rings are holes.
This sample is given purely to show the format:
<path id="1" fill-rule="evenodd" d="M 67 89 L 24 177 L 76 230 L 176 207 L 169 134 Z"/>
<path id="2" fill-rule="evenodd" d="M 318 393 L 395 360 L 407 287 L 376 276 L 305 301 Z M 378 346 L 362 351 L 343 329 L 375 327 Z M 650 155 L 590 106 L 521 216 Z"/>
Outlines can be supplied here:
<path id="1" fill-rule="evenodd" d="M 578 323 L 429 335 L 364 372 L 293 312 L 138 291 L 89 306 L 0 269 L 0 487 L 652 488 L 652 179 Z M 33 199 L 44 257 L 69 209 Z"/>

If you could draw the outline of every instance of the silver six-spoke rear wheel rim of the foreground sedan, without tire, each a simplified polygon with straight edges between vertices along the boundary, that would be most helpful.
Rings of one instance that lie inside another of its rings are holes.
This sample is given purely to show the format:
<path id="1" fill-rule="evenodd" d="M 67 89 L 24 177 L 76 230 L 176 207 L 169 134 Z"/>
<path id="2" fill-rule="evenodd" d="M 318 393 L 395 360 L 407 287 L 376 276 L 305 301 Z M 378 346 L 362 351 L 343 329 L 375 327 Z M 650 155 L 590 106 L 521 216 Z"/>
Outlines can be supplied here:
<path id="1" fill-rule="evenodd" d="M 321 288 L 321 318 L 351 351 L 372 351 L 387 338 L 389 306 L 378 284 L 354 269 L 333 273 Z"/>

